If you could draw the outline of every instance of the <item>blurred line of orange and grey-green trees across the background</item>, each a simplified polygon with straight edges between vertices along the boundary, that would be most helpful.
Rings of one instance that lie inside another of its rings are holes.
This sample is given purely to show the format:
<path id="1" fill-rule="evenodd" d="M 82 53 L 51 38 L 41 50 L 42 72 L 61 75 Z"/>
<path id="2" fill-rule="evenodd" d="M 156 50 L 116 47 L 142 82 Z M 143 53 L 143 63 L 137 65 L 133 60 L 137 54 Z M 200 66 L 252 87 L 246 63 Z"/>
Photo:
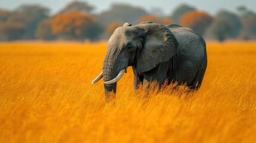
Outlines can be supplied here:
<path id="1" fill-rule="evenodd" d="M 0 41 L 108 39 L 125 22 L 152 21 L 190 27 L 206 39 L 256 39 L 256 14 L 240 6 L 237 11 L 220 10 L 216 15 L 181 4 L 164 15 L 159 8 L 146 11 L 128 4 L 112 4 L 109 10 L 94 13 L 87 2 L 73 1 L 57 14 L 41 5 L 21 5 L 13 11 L 0 10 Z"/>

